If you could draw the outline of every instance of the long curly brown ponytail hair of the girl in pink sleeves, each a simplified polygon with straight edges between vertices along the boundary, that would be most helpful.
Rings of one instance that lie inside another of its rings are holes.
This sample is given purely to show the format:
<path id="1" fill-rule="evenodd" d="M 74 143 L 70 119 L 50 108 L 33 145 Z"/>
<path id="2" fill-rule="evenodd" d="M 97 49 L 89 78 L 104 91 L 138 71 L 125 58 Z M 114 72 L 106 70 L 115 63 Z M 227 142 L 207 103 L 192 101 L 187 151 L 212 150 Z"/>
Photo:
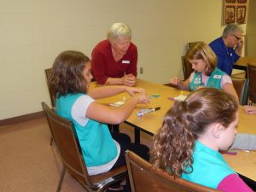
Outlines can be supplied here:
<path id="1" fill-rule="evenodd" d="M 175 102 L 166 113 L 154 136 L 151 162 L 177 177 L 193 170 L 195 139 L 212 123 L 228 127 L 236 119 L 237 110 L 236 98 L 224 91 L 214 88 L 193 91 L 184 102 Z"/>

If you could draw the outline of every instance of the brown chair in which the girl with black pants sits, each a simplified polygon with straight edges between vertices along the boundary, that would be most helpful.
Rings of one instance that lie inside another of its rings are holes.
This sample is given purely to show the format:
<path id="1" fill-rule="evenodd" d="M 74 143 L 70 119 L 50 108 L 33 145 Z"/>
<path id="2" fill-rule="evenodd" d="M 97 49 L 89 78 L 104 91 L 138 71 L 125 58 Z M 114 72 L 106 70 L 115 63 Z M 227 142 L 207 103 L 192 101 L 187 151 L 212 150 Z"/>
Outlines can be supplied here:
<path id="1" fill-rule="evenodd" d="M 113 171 L 99 175 L 89 176 L 73 122 L 61 118 L 45 102 L 42 102 L 42 107 L 48 120 L 56 149 L 63 163 L 57 192 L 61 191 L 66 169 L 87 191 L 104 191 L 108 189 L 109 185 L 127 177 L 126 166 L 120 166 Z"/>

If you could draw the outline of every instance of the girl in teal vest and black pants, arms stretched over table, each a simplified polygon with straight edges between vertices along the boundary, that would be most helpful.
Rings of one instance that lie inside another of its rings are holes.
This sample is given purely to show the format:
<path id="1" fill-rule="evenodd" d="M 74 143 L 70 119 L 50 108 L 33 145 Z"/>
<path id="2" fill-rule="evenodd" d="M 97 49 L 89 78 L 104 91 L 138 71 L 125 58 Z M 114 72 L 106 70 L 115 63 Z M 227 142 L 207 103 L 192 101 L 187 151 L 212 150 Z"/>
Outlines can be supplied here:
<path id="1" fill-rule="evenodd" d="M 64 51 L 55 59 L 49 77 L 49 88 L 55 96 L 55 112 L 73 121 L 89 175 L 108 172 L 125 165 L 125 150 L 130 149 L 148 160 L 148 148 L 131 143 L 122 133 L 110 133 L 107 124 L 127 119 L 137 103 L 148 103 L 141 88 L 123 85 L 89 89 L 90 59 L 79 51 Z M 131 98 L 119 108 L 96 102 L 107 96 L 128 92 Z"/>

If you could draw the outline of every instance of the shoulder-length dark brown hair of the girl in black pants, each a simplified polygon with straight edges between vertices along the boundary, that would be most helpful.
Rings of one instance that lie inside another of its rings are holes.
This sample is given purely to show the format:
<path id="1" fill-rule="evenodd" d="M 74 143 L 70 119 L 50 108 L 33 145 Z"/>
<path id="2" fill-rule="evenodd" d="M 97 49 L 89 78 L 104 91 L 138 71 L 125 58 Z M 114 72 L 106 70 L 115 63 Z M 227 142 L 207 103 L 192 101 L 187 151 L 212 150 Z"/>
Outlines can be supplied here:
<path id="1" fill-rule="evenodd" d="M 49 76 L 49 89 L 55 98 L 69 93 L 86 93 L 88 82 L 84 79 L 85 63 L 90 59 L 75 50 L 61 52 L 55 59 Z"/>

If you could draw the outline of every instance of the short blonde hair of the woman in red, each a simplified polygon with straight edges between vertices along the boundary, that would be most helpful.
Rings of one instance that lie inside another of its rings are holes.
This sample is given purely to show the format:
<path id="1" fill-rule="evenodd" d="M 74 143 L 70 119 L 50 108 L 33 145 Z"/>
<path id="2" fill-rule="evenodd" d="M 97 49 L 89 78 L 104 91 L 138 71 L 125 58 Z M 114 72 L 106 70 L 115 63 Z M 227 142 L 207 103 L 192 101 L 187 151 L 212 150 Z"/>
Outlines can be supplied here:
<path id="1" fill-rule="evenodd" d="M 125 23 L 113 23 L 107 32 L 107 38 L 110 42 L 114 42 L 119 38 L 131 38 L 131 28 Z"/>

